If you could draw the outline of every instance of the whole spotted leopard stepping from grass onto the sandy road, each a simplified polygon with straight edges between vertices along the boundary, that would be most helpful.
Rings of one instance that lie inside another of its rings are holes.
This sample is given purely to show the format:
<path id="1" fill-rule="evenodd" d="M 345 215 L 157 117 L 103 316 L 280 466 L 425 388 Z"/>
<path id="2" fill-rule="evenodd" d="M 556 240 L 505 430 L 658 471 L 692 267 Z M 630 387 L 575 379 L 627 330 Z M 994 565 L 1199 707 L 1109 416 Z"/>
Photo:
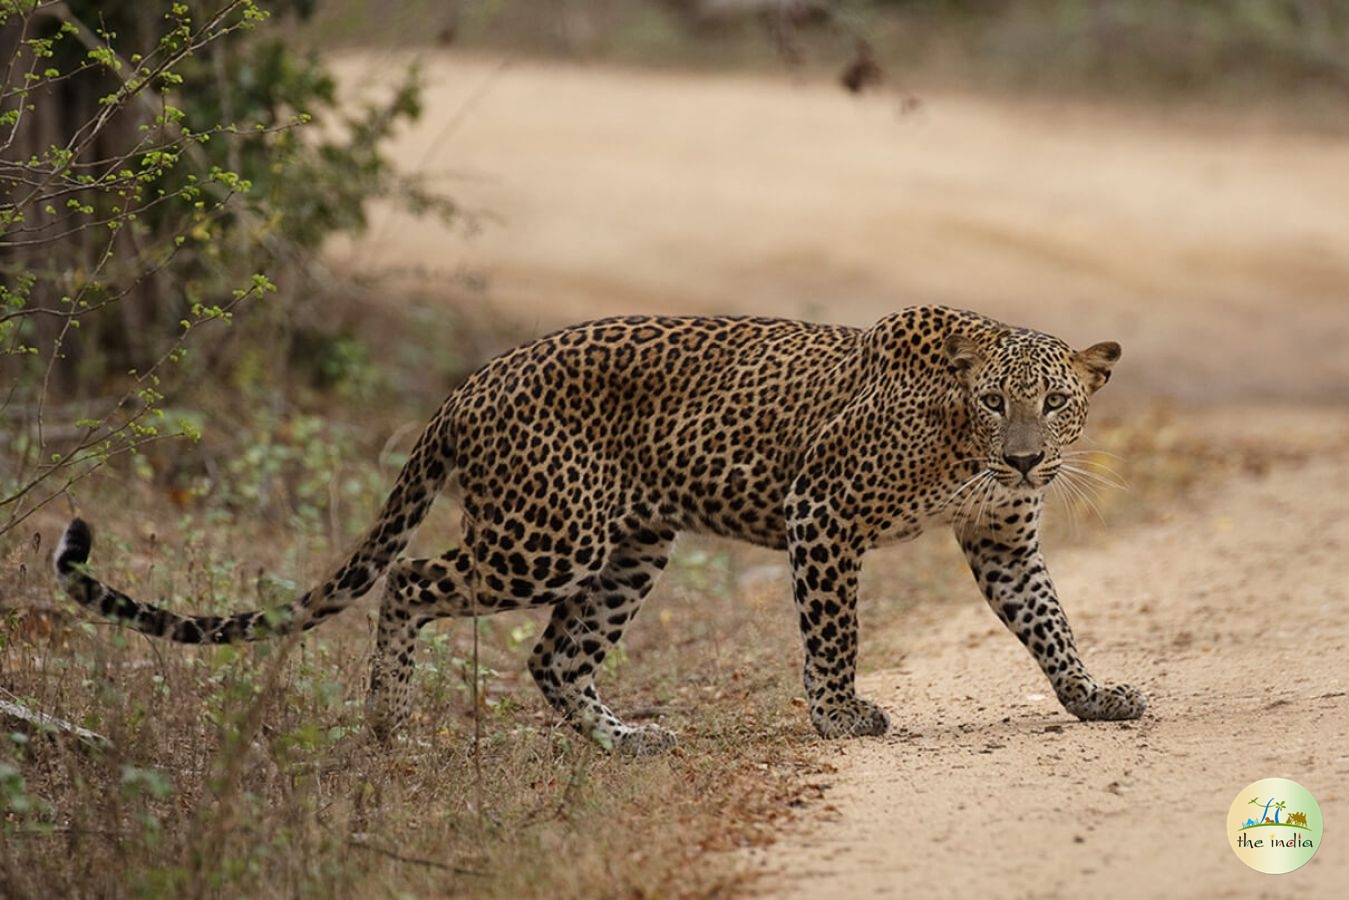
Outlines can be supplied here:
<path id="1" fill-rule="evenodd" d="M 563 722 L 631 754 L 676 743 L 629 723 L 596 673 L 692 532 L 786 553 L 809 722 L 881 735 L 857 691 L 858 579 L 878 546 L 948 528 L 994 615 L 1081 721 L 1141 716 L 1145 695 L 1093 677 L 1040 546 L 1047 488 L 1121 349 L 979 313 L 912 306 L 870 328 L 741 316 L 630 316 L 563 328 L 486 363 L 417 437 L 374 525 L 316 587 L 277 609 L 179 614 L 89 565 L 74 518 L 54 553 L 80 606 L 182 644 L 312 629 L 383 578 L 366 719 L 380 741 L 413 711 L 418 633 L 442 618 L 549 607 L 527 668 Z M 460 540 L 405 557 L 457 488 Z"/>

